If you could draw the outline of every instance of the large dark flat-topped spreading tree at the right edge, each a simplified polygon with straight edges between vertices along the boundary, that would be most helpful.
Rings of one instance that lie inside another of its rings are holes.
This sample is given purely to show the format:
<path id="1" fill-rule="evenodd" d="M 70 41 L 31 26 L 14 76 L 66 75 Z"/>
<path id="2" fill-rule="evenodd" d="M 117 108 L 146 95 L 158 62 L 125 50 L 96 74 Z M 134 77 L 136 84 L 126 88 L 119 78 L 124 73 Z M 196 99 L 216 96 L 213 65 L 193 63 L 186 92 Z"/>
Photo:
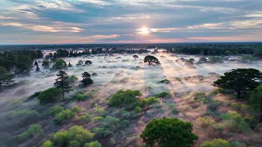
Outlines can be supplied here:
<path id="1" fill-rule="evenodd" d="M 237 92 L 237 98 L 247 90 L 253 90 L 260 85 L 262 73 L 256 69 L 233 69 L 231 72 L 224 73 L 220 79 L 214 81 L 213 86 L 234 90 Z"/>

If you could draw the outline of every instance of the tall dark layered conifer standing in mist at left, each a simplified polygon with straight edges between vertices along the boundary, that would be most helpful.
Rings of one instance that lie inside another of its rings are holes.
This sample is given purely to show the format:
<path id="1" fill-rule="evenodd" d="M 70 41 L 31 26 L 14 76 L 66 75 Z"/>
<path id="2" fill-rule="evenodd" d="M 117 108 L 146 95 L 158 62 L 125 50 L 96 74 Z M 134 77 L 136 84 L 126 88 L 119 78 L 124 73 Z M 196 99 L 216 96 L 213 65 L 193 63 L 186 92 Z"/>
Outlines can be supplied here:
<path id="1" fill-rule="evenodd" d="M 62 89 L 63 99 L 65 98 L 65 92 L 71 91 L 71 86 L 69 86 L 69 75 L 65 71 L 59 71 L 57 79 L 55 79 L 54 87 Z"/>

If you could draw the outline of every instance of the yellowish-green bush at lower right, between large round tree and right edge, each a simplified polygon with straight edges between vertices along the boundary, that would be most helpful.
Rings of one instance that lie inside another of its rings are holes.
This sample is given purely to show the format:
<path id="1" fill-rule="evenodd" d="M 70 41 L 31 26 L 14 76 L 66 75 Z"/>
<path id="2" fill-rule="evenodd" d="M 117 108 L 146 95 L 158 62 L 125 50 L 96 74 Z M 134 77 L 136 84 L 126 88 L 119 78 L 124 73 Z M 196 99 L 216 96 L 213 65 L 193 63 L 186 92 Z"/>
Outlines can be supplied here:
<path id="1" fill-rule="evenodd" d="M 231 130 L 232 132 L 249 133 L 251 129 L 246 123 L 245 119 L 241 117 L 236 111 L 229 110 L 227 113 L 222 114 L 222 126 Z"/>

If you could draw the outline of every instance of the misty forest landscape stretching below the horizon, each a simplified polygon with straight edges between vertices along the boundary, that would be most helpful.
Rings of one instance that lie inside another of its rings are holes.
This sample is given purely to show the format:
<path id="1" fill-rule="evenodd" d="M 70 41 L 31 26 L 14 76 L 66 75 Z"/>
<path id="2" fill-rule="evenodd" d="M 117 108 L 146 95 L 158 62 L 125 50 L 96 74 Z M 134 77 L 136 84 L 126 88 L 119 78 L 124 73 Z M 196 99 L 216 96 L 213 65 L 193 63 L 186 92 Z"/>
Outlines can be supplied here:
<path id="1" fill-rule="evenodd" d="M 261 147 L 262 44 L 129 45 L 1 46 L 0 146 Z"/>

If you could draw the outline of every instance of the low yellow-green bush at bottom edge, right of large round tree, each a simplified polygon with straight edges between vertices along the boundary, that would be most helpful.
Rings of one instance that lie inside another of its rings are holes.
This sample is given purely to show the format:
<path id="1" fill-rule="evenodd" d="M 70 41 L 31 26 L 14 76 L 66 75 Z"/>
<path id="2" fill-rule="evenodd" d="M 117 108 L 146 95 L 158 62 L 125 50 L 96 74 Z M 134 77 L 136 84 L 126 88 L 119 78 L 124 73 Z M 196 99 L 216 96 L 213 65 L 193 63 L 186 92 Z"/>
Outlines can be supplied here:
<path id="1" fill-rule="evenodd" d="M 221 138 L 214 139 L 213 141 L 205 141 L 200 147 L 231 147 L 230 143 Z"/>

